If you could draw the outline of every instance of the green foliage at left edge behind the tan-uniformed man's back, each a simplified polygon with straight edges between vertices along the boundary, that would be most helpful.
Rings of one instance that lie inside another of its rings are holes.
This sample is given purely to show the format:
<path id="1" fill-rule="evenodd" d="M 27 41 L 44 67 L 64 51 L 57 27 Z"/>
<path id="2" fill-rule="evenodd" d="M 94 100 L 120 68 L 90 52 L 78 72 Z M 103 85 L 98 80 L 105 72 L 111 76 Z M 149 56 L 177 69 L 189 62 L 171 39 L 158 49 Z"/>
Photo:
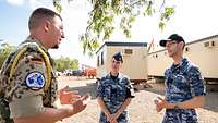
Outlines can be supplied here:
<path id="1" fill-rule="evenodd" d="M 2 66 L 7 57 L 15 49 L 14 46 L 2 44 L 0 47 L 0 67 Z"/>

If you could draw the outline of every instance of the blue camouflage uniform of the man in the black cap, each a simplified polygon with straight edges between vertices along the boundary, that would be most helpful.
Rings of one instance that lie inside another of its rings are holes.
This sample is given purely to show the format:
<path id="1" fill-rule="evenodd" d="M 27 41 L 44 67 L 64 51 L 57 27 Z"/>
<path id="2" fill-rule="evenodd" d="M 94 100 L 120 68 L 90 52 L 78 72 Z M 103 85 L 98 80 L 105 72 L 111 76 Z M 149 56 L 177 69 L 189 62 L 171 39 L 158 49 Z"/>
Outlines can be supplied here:
<path id="1" fill-rule="evenodd" d="M 204 79 L 198 67 L 183 59 L 179 65 L 172 65 L 165 72 L 166 99 L 169 103 L 179 103 L 204 96 Z M 197 123 L 194 109 L 166 109 L 162 123 Z"/>

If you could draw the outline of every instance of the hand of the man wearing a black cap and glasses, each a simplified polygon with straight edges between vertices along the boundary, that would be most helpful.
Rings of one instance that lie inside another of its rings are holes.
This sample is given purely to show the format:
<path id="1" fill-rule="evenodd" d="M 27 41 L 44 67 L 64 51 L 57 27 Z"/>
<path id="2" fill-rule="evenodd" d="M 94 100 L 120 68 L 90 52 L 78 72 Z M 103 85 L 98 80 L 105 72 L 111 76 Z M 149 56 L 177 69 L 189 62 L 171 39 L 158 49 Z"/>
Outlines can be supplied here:
<path id="1" fill-rule="evenodd" d="M 154 102 L 156 104 L 157 112 L 160 112 L 164 108 L 167 108 L 168 102 L 161 97 L 157 97 L 157 98 L 158 98 L 158 100 L 156 99 L 156 100 L 154 100 Z"/>

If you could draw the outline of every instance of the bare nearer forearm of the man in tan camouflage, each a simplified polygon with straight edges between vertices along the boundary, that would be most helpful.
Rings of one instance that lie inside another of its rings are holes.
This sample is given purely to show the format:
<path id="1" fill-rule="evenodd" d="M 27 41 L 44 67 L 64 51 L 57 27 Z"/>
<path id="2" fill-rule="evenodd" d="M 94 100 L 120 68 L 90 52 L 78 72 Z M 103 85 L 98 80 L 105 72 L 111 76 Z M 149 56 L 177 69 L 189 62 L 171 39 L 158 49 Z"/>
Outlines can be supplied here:
<path id="1" fill-rule="evenodd" d="M 72 109 L 45 108 L 38 115 L 14 119 L 14 123 L 55 123 L 73 114 Z"/>

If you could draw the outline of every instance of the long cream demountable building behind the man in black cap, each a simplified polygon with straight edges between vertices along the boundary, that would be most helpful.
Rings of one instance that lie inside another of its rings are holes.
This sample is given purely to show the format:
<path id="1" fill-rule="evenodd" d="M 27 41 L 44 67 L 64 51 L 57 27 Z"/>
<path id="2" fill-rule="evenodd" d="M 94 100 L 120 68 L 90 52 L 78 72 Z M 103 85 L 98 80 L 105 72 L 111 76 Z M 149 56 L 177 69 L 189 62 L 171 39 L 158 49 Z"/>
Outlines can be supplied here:
<path id="1" fill-rule="evenodd" d="M 187 42 L 184 57 L 196 64 L 206 82 L 218 82 L 218 35 Z M 167 50 L 148 53 L 148 76 L 164 78 L 167 67 L 172 64 Z"/>

